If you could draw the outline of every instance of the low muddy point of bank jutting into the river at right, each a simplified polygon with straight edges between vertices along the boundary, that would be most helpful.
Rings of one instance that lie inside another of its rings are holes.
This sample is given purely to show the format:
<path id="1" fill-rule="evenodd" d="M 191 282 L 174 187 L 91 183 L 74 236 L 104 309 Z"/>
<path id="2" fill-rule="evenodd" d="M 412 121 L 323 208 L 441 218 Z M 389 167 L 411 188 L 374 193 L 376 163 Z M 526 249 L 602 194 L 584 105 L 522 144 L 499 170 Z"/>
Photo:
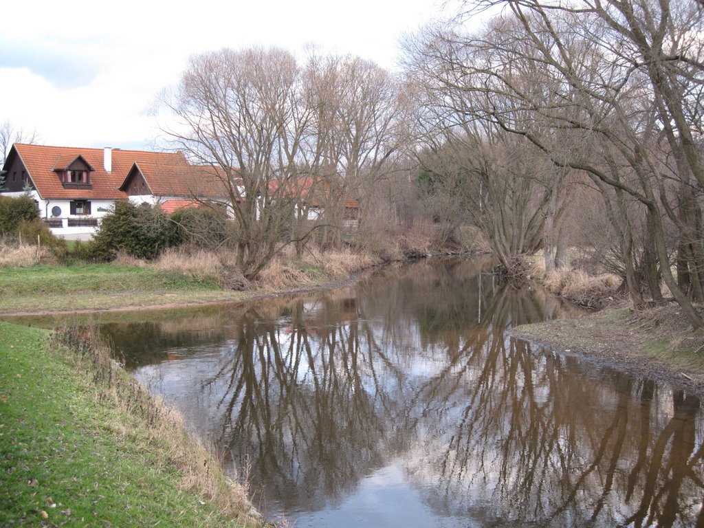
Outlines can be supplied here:
<path id="1" fill-rule="evenodd" d="M 693 331 L 674 303 L 637 313 L 605 308 L 582 318 L 516 327 L 511 333 L 704 396 L 704 332 Z"/>

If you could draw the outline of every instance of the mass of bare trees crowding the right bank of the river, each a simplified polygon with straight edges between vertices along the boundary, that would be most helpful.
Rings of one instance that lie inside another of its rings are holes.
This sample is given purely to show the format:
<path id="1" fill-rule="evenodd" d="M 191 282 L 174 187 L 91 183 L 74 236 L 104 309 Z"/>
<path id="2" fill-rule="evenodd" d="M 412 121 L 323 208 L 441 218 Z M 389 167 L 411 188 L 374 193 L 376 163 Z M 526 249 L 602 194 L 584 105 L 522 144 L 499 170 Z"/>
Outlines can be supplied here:
<path id="1" fill-rule="evenodd" d="M 704 324 L 702 14 L 693 0 L 468 1 L 409 40 L 422 165 L 504 265 L 542 249 L 560 266 L 591 222 L 636 308 L 662 301 L 662 279 Z"/>

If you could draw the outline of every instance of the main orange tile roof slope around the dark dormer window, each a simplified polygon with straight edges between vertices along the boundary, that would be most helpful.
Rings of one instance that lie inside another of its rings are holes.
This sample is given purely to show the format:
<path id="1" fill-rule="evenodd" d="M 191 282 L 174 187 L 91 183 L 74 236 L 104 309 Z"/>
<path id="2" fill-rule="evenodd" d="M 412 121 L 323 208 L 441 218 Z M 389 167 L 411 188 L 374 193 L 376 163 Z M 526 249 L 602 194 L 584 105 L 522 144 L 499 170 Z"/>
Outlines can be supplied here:
<path id="1" fill-rule="evenodd" d="M 43 199 L 125 199 L 127 194 L 120 191 L 119 187 L 135 162 L 140 166 L 187 165 L 182 153 L 113 149 L 112 170 L 106 172 L 103 165 L 103 149 L 21 143 L 16 143 L 15 149 Z M 77 156 L 82 156 L 94 169 L 90 174 L 91 189 L 64 189 L 58 175 L 54 172 L 55 167 L 70 164 Z"/>

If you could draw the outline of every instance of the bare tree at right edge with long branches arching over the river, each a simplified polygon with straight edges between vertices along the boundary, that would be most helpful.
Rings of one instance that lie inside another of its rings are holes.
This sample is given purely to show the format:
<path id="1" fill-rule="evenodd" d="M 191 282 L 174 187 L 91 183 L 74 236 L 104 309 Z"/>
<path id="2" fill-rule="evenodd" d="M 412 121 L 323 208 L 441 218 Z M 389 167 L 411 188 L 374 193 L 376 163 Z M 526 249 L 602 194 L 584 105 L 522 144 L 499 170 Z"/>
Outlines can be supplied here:
<path id="1" fill-rule="evenodd" d="M 641 0 L 479 3 L 494 4 L 507 11 L 488 31 L 470 35 L 441 28 L 427 41 L 422 51 L 441 59 L 440 72 L 451 72 L 435 75 L 436 86 L 450 101 L 466 92 L 482 94 L 489 104 L 474 105 L 467 114 L 527 139 L 555 166 L 580 171 L 603 190 L 610 218 L 622 233 L 636 306 L 642 299 L 624 212 L 627 201 L 639 201 L 662 278 L 692 325 L 704 325 L 672 275 L 663 224 L 664 218 L 678 223 L 680 238 L 690 247 L 686 267 L 698 279 L 692 271 L 704 262 L 697 256 L 699 243 L 692 248 L 691 242 L 701 240 L 699 227 L 696 222 L 688 227 L 677 214 L 672 180 L 693 191 L 686 203 L 694 208 L 689 218 L 696 219 L 701 163 L 697 127 L 689 122 L 700 121 L 699 11 L 690 0 L 663 0 L 657 6 Z M 495 103 L 506 100 L 510 104 Z M 677 172 L 662 169 L 663 142 Z M 696 288 L 692 291 L 697 298 Z"/>

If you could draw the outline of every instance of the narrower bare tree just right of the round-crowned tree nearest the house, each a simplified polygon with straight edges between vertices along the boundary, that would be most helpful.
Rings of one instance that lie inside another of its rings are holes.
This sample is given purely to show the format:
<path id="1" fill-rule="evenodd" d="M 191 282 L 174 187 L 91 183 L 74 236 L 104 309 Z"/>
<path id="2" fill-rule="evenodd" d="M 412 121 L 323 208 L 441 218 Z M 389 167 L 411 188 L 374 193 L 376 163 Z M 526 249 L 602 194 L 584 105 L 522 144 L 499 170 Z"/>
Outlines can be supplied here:
<path id="1" fill-rule="evenodd" d="M 340 244 L 346 201 L 362 198 L 364 206 L 375 184 L 393 172 L 406 106 L 394 77 L 358 57 L 311 56 L 306 76 L 315 109 L 308 151 L 324 184 L 318 194 L 325 249 Z"/>

